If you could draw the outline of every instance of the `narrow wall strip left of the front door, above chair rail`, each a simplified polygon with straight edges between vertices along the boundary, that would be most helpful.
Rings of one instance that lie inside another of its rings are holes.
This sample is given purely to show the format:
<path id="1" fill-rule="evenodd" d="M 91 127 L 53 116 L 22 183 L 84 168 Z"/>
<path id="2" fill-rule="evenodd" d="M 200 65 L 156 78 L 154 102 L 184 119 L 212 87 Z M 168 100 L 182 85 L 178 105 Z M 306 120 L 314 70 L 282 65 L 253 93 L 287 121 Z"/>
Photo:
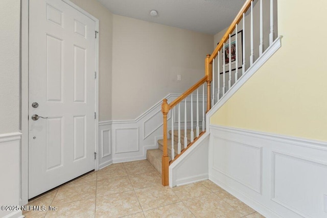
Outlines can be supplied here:
<path id="1" fill-rule="evenodd" d="M 0 134 L 19 130 L 20 1 L 0 1 Z"/>

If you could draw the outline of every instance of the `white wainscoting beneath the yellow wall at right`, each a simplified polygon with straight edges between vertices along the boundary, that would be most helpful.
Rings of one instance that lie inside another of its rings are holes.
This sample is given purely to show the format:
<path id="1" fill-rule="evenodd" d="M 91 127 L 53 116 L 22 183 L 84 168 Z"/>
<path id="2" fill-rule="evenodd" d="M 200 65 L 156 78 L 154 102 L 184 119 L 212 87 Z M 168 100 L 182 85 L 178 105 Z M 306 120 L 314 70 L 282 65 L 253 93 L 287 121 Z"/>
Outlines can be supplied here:
<path id="1" fill-rule="evenodd" d="M 266 217 L 327 217 L 327 143 L 210 125 L 209 179 Z"/>

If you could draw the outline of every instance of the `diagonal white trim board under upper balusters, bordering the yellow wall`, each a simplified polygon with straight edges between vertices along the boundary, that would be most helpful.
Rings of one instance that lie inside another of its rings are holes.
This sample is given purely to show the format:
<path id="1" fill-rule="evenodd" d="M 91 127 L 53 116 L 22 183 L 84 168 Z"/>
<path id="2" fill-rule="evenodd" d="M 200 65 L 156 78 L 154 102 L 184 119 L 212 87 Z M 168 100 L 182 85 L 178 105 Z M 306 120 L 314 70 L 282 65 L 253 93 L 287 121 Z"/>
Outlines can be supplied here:
<path id="1" fill-rule="evenodd" d="M 260 56 L 245 72 L 242 77 L 235 82 L 234 85 L 221 97 L 221 99 L 212 107 L 211 110 L 206 114 L 206 120 L 209 120 L 212 115 L 223 106 L 228 99 L 231 98 L 237 90 L 239 90 L 242 85 L 250 79 L 250 77 L 282 46 L 281 42 L 282 36 L 278 36 L 275 41 L 267 48 L 267 50 Z M 206 123 L 206 129 L 209 130 L 210 122 Z"/>

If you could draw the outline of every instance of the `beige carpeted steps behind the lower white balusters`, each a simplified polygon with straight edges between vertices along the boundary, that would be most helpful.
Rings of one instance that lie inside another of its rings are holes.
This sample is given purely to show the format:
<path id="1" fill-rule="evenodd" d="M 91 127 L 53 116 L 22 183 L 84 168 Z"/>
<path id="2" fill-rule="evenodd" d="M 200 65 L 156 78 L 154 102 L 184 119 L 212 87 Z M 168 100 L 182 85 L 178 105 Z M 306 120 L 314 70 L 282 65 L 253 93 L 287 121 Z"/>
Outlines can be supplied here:
<path id="1" fill-rule="evenodd" d="M 186 130 L 186 136 L 188 138 L 188 144 L 191 143 L 191 130 Z M 196 130 L 194 130 L 195 132 Z M 181 130 L 181 138 L 184 138 L 184 130 Z M 169 131 L 169 139 L 167 141 L 167 145 L 168 145 L 168 157 L 169 157 L 169 161 L 172 160 L 172 131 Z M 184 140 L 180 140 L 181 142 L 181 148 L 184 148 Z M 156 170 L 161 174 L 162 173 L 162 154 L 164 151 L 164 139 L 160 139 L 158 140 L 158 145 L 159 148 L 158 149 L 151 149 L 148 150 L 147 152 L 147 159 L 149 160 L 149 162 L 154 166 L 154 168 L 156 168 Z M 174 153 L 175 156 L 178 155 L 178 130 L 174 131 Z"/>

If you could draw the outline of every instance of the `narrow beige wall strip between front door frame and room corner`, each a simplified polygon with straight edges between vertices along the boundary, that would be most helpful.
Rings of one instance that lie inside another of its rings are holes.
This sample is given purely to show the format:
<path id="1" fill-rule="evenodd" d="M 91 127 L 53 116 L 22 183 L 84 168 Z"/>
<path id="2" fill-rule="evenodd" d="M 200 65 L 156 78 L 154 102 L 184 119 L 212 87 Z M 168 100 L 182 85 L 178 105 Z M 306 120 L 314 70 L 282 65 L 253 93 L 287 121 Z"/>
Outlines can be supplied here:
<path id="1" fill-rule="evenodd" d="M 71 1 L 99 19 L 99 120 L 110 120 L 112 14 L 96 0 Z"/>

